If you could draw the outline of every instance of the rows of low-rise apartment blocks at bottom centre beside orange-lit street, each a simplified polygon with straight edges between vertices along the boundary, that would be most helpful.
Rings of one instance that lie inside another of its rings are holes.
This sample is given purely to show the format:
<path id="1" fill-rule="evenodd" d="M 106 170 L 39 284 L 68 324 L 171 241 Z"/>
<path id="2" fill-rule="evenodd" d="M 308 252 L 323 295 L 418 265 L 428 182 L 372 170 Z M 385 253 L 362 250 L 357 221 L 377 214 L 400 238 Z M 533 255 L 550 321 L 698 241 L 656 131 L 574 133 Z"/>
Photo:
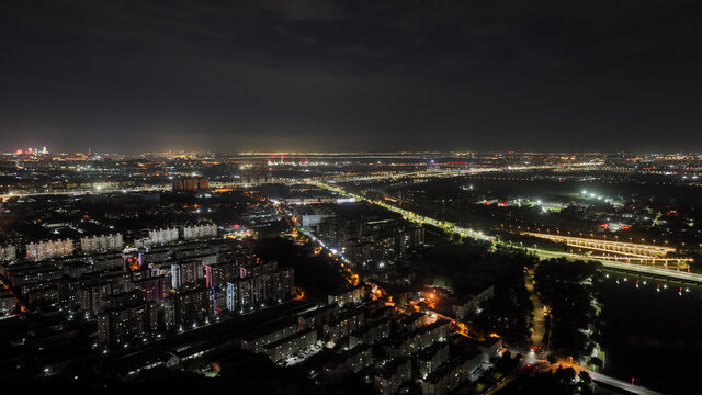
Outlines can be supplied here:
<path id="1" fill-rule="evenodd" d="M 359 286 L 329 295 L 324 306 L 248 332 L 240 348 L 281 365 L 302 363 L 327 348 L 332 352 L 309 366 L 326 385 L 361 380 L 380 394 L 419 386 L 422 394 L 442 395 L 475 381 L 502 348 L 499 338 L 471 339 L 454 334 L 452 325 L 435 314 L 400 313 Z"/>

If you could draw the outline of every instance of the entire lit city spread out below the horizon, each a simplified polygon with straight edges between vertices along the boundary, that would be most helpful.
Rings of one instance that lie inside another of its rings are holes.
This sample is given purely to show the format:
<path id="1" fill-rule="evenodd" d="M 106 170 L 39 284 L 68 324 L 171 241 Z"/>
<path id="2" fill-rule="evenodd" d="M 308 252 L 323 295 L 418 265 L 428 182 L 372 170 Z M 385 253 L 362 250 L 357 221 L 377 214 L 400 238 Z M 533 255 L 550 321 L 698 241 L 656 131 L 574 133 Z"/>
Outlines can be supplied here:
<path id="1" fill-rule="evenodd" d="M 700 154 L 91 153 L 0 155 L 18 390 L 694 386 Z"/>

